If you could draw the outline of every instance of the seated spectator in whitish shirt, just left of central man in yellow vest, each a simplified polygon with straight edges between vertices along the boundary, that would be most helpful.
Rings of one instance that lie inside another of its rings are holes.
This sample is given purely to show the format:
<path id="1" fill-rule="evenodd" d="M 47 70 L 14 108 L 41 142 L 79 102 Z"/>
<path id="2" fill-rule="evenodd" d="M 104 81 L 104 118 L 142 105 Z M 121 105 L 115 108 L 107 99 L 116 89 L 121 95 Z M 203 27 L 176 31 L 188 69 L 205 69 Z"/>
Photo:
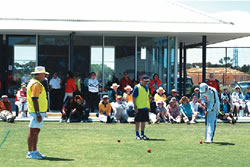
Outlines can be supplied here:
<path id="1" fill-rule="evenodd" d="M 118 95 L 116 98 L 116 103 L 112 106 L 115 113 L 115 118 L 117 122 L 128 122 L 127 110 L 129 109 L 126 102 L 122 101 L 122 96 Z"/>

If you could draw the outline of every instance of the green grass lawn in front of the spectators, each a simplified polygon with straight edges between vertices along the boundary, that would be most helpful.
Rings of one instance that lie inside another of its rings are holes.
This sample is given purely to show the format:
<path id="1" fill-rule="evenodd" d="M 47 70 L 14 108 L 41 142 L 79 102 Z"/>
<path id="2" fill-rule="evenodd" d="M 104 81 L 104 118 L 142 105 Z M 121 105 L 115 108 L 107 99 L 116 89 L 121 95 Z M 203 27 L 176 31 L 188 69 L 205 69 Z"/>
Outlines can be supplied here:
<path id="1" fill-rule="evenodd" d="M 250 124 L 219 123 L 214 144 L 204 140 L 204 124 L 147 125 L 151 141 L 135 140 L 134 124 L 45 122 L 38 150 L 45 160 L 26 159 L 28 122 L 0 122 L 1 167 L 74 166 L 249 166 Z M 117 140 L 121 142 L 118 143 Z M 151 153 L 147 150 L 151 149 Z"/>

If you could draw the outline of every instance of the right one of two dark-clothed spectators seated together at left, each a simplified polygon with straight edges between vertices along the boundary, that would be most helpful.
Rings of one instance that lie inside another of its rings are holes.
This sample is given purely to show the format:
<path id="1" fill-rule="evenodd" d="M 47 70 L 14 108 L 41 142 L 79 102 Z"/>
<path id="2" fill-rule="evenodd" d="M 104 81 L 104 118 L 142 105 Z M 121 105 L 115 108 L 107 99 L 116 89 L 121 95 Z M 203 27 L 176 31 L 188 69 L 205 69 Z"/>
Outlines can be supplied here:
<path id="1" fill-rule="evenodd" d="M 88 122 L 89 112 L 86 107 L 86 102 L 80 95 L 74 97 L 74 109 L 70 113 L 69 122 Z"/>

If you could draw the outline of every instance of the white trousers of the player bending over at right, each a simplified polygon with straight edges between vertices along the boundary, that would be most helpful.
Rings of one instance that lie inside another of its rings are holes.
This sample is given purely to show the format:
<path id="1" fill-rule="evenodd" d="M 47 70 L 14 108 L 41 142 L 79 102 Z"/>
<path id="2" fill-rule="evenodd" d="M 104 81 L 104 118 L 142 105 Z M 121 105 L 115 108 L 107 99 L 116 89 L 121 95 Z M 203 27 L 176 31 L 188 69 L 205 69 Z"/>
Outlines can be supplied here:
<path id="1" fill-rule="evenodd" d="M 208 115 L 206 117 L 206 132 L 205 132 L 206 142 L 213 142 L 217 124 L 217 118 L 216 118 L 217 112 L 218 112 L 217 110 L 213 112 L 208 112 Z"/>

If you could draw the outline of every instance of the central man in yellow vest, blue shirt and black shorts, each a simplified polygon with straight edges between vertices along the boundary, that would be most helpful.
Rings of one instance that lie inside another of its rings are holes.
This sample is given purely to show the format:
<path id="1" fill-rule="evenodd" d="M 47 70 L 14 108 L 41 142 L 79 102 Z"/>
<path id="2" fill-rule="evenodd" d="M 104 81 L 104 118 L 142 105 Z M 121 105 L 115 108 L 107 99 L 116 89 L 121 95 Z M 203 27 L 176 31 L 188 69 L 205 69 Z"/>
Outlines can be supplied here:
<path id="1" fill-rule="evenodd" d="M 147 86 L 149 77 L 143 75 L 140 79 L 140 83 L 137 84 L 133 92 L 133 103 L 136 112 L 135 115 L 135 130 L 137 140 L 148 140 L 149 138 L 144 135 L 145 123 L 149 121 L 149 88 Z M 139 127 L 141 124 L 141 136 L 139 134 Z"/>

